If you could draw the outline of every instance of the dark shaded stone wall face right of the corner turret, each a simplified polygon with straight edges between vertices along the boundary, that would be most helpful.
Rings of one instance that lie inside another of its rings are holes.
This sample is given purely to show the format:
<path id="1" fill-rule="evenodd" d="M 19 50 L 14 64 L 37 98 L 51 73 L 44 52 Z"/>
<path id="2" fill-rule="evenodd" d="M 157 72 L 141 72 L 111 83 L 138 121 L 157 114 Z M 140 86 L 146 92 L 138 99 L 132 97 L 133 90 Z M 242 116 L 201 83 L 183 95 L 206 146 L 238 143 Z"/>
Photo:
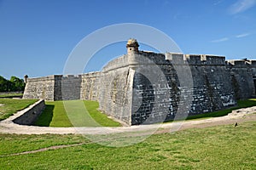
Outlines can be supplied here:
<path id="1" fill-rule="evenodd" d="M 141 58 L 153 60 L 163 75 L 155 74 L 158 78 L 154 79 L 147 75 L 147 72 L 154 74 L 150 71 L 153 66 L 137 66 L 133 81 L 132 125 L 163 122 L 175 116 L 182 118 L 236 105 L 224 57 L 140 52 L 136 58 L 138 63 L 142 62 Z M 192 79 L 190 87 L 183 86 L 180 80 L 189 81 L 189 78 Z"/>

